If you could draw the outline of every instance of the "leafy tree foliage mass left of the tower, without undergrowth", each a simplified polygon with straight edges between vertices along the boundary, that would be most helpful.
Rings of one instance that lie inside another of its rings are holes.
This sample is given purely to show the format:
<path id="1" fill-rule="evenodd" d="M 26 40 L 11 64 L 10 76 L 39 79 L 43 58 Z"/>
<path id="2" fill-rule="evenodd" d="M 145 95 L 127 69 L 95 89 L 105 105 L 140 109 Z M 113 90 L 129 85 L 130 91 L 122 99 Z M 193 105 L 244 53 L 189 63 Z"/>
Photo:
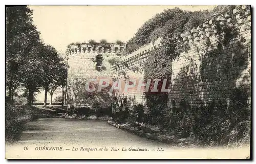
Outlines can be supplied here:
<path id="1" fill-rule="evenodd" d="M 6 22 L 6 90 L 12 104 L 17 88 L 24 90 L 28 104 L 34 95 L 45 89 L 45 104 L 50 86 L 65 86 L 67 64 L 51 45 L 40 39 L 33 25 L 32 11 L 27 6 L 7 8 Z"/>

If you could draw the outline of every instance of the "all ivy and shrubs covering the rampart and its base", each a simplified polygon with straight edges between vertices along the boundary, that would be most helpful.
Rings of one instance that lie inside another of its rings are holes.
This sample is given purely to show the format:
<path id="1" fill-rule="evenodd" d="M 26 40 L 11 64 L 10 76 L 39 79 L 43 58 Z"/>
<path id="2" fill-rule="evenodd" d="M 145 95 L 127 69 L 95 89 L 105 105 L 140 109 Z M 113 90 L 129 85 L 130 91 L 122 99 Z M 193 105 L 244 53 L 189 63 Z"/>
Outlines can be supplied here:
<path id="1" fill-rule="evenodd" d="M 172 106 L 167 106 L 167 101 L 170 100 L 167 93 L 162 92 L 146 92 L 146 106 L 127 106 L 127 98 L 115 98 L 112 104 L 113 109 L 117 111 L 113 117 L 114 121 L 137 121 L 158 126 L 162 130 L 167 130 L 168 135 L 192 138 L 201 145 L 248 143 L 250 105 L 247 101 L 250 87 L 237 87 L 234 84 L 247 68 L 249 53 L 243 44 L 245 39 L 237 38 L 239 31 L 236 27 L 214 22 L 217 24 L 214 27 L 217 31 L 217 45 L 212 44 L 206 37 L 205 47 L 209 51 L 200 58 L 200 67 L 197 68 L 192 61 L 190 65 L 181 68 L 176 79 L 171 79 L 172 61 L 188 49 L 180 34 L 202 25 L 212 14 L 226 13 L 235 7 L 217 7 L 211 12 L 187 12 L 175 8 L 165 10 L 145 22 L 135 37 L 127 42 L 126 50 L 131 53 L 144 44 L 162 38 L 162 46 L 147 54 L 144 79 L 167 79 L 167 86 L 172 80 L 173 88 L 176 89 L 176 92 L 170 92 L 173 98 Z M 237 7 L 238 10 L 240 8 Z M 232 44 L 229 44 L 231 40 Z M 230 49 L 233 49 L 233 53 L 225 51 Z M 200 76 L 196 74 L 196 69 L 199 69 Z M 161 84 L 162 81 L 159 83 L 159 90 Z M 150 90 L 153 86 L 151 84 Z M 197 104 L 190 104 L 191 99 L 201 100 L 200 92 L 207 93 L 204 96 L 207 102 L 198 101 Z M 132 111 L 136 111 L 136 114 Z"/>

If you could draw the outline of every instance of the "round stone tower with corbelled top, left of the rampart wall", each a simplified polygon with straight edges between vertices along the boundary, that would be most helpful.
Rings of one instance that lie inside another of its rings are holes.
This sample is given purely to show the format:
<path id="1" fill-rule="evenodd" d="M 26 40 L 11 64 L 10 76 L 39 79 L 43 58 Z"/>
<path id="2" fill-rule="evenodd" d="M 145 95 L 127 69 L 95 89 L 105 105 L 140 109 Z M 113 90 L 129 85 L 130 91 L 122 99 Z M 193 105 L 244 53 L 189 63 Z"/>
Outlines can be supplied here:
<path id="1" fill-rule="evenodd" d="M 88 79 L 112 78 L 111 61 L 118 60 L 125 52 L 125 44 L 82 43 L 70 45 L 68 54 L 68 108 L 109 107 L 111 93 L 107 91 L 88 92 Z"/>

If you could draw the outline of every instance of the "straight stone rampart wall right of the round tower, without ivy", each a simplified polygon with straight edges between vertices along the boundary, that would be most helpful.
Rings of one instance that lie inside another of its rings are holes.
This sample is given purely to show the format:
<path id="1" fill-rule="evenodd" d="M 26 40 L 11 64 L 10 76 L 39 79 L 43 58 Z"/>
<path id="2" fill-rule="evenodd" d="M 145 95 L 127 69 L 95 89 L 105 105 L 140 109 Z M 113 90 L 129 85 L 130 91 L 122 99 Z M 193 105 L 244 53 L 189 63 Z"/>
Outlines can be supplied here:
<path id="1" fill-rule="evenodd" d="M 187 49 L 172 62 L 169 100 L 187 99 L 191 105 L 197 105 L 201 101 L 206 103 L 221 98 L 229 104 L 230 85 L 245 88 L 250 93 L 247 78 L 251 69 L 250 6 L 237 6 L 225 14 L 212 15 L 200 26 L 184 31 L 180 37 L 180 43 Z M 123 56 L 111 67 L 113 77 L 123 80 L 143 78 L 147 54 L 159 46 L 162 46 L 161 38 Z M 144 102 L 141 93 L 131 90 L 127 96 Z"/>

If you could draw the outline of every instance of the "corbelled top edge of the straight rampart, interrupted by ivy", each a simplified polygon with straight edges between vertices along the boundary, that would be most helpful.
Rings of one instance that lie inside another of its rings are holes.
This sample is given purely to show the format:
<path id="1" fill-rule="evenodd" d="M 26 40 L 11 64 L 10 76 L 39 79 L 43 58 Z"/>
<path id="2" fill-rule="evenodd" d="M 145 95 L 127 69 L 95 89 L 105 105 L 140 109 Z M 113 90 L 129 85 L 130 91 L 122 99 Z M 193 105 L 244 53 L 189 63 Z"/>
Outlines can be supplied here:
<path id="1" fill-rule="evenodd" d="M 225 14 L 215 14 L 208 20 L 206 20 L 203 24 L 198 26 L 197 28 L 193 28 L 189 31 L 185 31 L 181 34 L 181 38 L 185 44 L 194 44 L 195 42 L 199 42 L 203 40 L 205 37 L 211 37 L 212 35 L 217 35 L 217 23 L 220 26 L 224 26 L 227 24 L 229 27 L 238 27 L 244 25 L 243 30 L 247 30 L 246 28 L 250 28 L 251 24 L 251 15 L 250 15 L 250 6 L 243 5 L 241 8 L 236 7 L 233 10 L 226 12 Z M 246 26 L 247 25 L 247 26 Z M 147 53 L 151 50 L 154 50 L 161 46 L 161 38 L 158 38 L 155 42 L 151 42 L 149 44 L 143 45 L 141 48 L 136 50 L 135 52 L 121 57 L 120 61 L 117 65 L 113 65 L 111 67 L 112 71 L 116 70 L 118 67 L 120 69 L 125 69 L 125 65 L 131 66 L 133 62 L 141 61 L 145 62 L 147 59 Z M 203 45 L 203 44 L 202 44 Z"/>

